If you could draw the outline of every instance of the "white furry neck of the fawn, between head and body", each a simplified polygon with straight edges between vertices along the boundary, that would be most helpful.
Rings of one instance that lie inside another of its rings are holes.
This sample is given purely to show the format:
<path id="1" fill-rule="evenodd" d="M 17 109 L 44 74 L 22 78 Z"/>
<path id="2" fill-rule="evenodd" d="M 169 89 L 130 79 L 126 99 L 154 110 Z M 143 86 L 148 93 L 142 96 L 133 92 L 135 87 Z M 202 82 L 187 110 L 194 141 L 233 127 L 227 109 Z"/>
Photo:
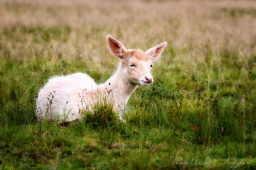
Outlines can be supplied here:
<path id="1" fill-rule="evenodd" d="M 138 85 L 126 80 L 122 74 L 122 63 L 119 64 L 118 69 L 109 80 L 100 85 L 99 88 L 104 93 L 108 94 L 113 100 L 113 107 L 116 110 L 123 109 L 129 100 L 129 96 L 136 90 Z"/>

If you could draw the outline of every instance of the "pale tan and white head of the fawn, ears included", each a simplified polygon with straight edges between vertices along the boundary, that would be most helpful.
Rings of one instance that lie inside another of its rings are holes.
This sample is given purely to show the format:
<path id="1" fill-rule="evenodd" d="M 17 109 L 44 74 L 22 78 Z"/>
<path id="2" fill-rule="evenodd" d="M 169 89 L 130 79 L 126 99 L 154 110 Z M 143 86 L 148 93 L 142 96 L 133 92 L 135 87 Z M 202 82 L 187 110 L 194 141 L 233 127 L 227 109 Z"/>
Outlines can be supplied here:
<path id="1" fill-rule="evenodd" d="M 153 62 L 157 61 L 167 45 L 159 44 L 143 52 L 142 50 L 126 50 L 124 45 L 112 36 L 107 36 L 110 52 L 121 61 L 121 75 L 124 80 L 136 85 L 149 85 L 154 81 L 151 75 Z"/>

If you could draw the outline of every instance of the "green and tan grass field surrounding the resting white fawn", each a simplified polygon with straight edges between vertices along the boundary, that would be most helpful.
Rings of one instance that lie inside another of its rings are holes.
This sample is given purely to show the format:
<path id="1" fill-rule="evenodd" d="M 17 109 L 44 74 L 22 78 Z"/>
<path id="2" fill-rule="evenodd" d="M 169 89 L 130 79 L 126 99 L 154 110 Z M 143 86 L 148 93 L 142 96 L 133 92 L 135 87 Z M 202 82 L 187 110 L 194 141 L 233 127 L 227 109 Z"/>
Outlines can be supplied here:
<path id="1" fill-rule="evenodd" d="M 255 18 L 255 1 L 0 0 L 0 169 L 256 169 Z M 37 123 L 49 77 L 115 72 L 108 34 L 131 49 L 167 42 L 126 123 L 107 106 Z"/>

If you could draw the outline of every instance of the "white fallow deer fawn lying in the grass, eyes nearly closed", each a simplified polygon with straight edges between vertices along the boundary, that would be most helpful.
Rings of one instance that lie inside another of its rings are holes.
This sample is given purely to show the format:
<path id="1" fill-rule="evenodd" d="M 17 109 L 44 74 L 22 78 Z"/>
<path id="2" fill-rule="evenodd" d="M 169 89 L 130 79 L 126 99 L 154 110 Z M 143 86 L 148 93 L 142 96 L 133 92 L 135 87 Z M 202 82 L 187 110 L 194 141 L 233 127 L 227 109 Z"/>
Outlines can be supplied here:
<path id="1" fill-rule="evenodd" d="M 101 85 L 97 85 L 89 75 L 83 73 L 51 78 L 38 93 L 38 120 L 80 120 L 81 111 L 91 109 L 98 96 L 107 97 L 121 117 L 120 113 L 129 96 L 138 85 L 149 85 L 154 81 L 151 76 L 153 62 L 157 61 L 165 49 L 166 42 L 143 52 L 126 50 L 112 36 L 107 36 L 107 41 L 110 52 L 121 61 L 116 73 Z"/>

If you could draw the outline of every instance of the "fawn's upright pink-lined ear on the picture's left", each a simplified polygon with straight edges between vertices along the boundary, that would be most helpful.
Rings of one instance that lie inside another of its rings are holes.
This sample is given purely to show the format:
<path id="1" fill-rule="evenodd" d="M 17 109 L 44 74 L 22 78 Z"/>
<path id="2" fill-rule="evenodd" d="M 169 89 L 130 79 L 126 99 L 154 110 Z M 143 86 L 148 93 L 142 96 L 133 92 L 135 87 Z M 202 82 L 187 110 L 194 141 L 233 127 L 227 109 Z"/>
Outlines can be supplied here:
<path id="1" fill-rule="evenodd" d="M 126 51 L 124 45 L 122 45 L 121 42 L 118 42 L 110 35 L 107 36 L 107 41 L 110 52 L 117 58 L 122 59 L 124 57 L 123 54 Z"/>

